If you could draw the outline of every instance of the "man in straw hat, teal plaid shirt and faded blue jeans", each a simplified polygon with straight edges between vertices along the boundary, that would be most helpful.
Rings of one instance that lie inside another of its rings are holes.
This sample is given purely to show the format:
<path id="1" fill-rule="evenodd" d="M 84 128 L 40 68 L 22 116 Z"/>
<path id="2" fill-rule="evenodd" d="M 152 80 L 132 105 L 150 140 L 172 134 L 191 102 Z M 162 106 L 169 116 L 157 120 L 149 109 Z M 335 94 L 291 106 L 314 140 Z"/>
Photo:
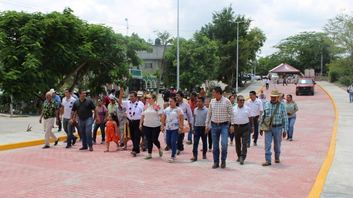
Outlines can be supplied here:
<path id="1" fill-rule="evenodd" d="M 288 117 L 286 107 L 283 103 L 278 101 L 279 93 L 277 89 L 272 89 L 270 103 L 265 103 L 263 108 L 261 121 L 259 128 L 261 128 L 262 123 L 265 118 L 271 117 L 275 112 L 276 106 L 279 105 L 278 110 L 272 120 L 271 130 L 265 131 L 265 159 L 266 162 L 262 166 L 271 165 L 271 143 L 273 140 L 273 148 L 275 151 L 275 163 L 280 163 L 280 154 L 281 154 L 281 142 L 282 138 L 285 138 L 287 135 L 288 129 Z M 283 128 L 283 132 L 282 132 Z M 262 136 L 263 131 L 259 130 L 260 135 Z"/>

